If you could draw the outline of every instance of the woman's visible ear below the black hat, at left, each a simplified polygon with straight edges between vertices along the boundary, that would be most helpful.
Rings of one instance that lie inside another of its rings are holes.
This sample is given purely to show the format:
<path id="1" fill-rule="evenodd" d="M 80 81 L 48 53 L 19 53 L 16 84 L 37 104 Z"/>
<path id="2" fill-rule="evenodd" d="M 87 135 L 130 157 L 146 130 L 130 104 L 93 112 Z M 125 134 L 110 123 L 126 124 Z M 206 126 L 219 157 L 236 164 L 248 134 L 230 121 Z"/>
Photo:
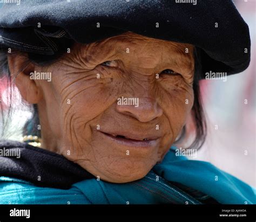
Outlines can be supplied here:
<path id="1" fill-rule="evenodd" d="M 34 104 L 41 100 L 41 90 L 35 80 L 30 79 L 30 73 L 35 71 L 35 65 L 29 63 L 28 56 L 22 53 L 8 55 L 8 65 L 11 78 L 27 102 Z"/>

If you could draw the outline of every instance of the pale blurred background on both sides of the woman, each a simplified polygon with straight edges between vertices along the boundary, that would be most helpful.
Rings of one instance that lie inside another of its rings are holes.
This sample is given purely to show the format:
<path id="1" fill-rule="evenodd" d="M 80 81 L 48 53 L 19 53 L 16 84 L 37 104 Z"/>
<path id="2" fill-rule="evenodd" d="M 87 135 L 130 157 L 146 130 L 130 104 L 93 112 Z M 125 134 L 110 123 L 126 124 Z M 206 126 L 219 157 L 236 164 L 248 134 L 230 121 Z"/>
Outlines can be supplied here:
<path id="1" fill-rule="evenodd" d="M 201 94 L 203 95 L 205 113 L 207 116 L 208 135 L 206 143 L 197 152 L 196 158 L 213 163 L 218 168 L 229 172 L 242 181 L 256 186 L 256 112 L 255 112 L 255 11 L 256 0 L 234 1 L 238 11 L 250 28 L 251 33 L 251 64 L 245 72 L 227 77 L 223 80 L 201 80 Z M 1 8 L 0 3 L 0 8 Z M 0 96 L 2 107 L 8 106 L 4 87 L 4 79 L 0 81 Z M 17 89 L 15 89 L 17 92 Z M 18 92 L 12 101 L 14 118 L 10 122 L 11 135 L 9 139 L 21 140 L 22 126 L 31 116 L 30 107 L 21 106 Z M 245 104 L 247 100 L 247 104 Z M 15 112 L 15 107 L 19 112 Z M 5 112 L 5 110 L 3 110 Z M 0 135 L 1 130 L 0 116 Z M 218 125 L 218 129 L 215 129 Z"/>

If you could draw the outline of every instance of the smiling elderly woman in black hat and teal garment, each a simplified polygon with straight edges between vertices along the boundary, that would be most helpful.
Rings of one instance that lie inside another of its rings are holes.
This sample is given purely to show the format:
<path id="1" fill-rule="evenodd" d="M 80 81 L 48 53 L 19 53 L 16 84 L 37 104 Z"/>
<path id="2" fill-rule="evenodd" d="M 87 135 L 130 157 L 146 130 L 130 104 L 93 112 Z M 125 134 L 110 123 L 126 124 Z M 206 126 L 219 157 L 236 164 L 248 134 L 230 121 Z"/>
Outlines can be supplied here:
<path id="1" fill-rule="evenodd" d="M 175 146 L 190 113 L 189 148 L 205 140 L 199 80 L 250 63 L 232 1 L 23 1 L 0 25 L 2 77 L 34 108 L 25 142 L 1 142 L 1 204 L 253 203 Z"/>

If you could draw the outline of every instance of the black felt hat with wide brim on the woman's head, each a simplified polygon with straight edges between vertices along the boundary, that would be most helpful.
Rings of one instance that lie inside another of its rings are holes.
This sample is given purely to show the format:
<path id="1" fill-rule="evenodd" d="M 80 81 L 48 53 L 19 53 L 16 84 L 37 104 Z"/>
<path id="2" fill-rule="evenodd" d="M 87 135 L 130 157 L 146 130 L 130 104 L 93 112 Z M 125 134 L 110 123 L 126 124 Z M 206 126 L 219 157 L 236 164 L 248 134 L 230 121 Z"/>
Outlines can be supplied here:
<path id="1" fill-rule="evenodd" d="M 250 64 L 248 26 L 231 0 L 9 2 L 0 9 L 1 48 L 52 55 L 68 39 L 86 44 L 131 31 L 196 46 L 200 78 L 239 73 Z"/>

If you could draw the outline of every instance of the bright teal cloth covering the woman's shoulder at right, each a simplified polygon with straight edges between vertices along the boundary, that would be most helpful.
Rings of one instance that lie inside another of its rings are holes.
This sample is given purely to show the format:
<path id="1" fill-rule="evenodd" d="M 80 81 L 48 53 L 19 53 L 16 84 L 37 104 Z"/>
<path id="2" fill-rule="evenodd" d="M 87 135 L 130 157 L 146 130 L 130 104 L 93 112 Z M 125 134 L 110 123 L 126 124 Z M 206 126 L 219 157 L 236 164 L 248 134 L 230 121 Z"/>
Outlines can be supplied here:
<path id="1" fill-rule="evenodd" d="M 183 184 L 214 198 L 221 204 L 255 204 L 255 188 L 210 162 L 177 156 L 167 152 L 163 162 L 153 168 L 167 181 Z"/>

